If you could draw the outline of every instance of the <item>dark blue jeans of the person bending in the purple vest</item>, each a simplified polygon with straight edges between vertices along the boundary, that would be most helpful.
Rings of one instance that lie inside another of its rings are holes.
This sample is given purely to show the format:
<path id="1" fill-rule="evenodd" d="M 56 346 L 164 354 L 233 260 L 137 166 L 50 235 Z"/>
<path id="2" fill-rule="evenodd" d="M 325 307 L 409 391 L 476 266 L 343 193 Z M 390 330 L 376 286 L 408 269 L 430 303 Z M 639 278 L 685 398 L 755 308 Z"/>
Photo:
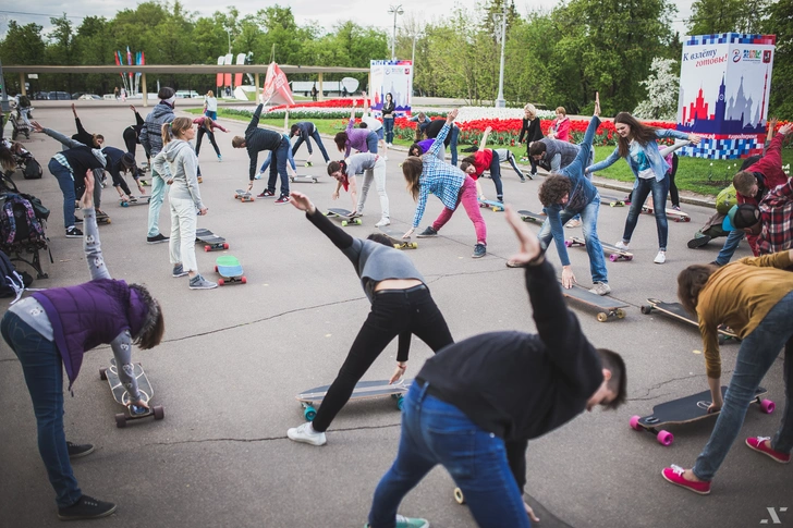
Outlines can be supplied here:
<path id="1" fill-rule="evenodd" d="M 63 360 L 58 346 L 10 311 L 0 322 L 0 331 L 25 374 L 36 414 L 38 452 L 56 490 L 56 502 L 58 507 L 69 507 L 83 492 L 72 472 L 63 431 Z"/>

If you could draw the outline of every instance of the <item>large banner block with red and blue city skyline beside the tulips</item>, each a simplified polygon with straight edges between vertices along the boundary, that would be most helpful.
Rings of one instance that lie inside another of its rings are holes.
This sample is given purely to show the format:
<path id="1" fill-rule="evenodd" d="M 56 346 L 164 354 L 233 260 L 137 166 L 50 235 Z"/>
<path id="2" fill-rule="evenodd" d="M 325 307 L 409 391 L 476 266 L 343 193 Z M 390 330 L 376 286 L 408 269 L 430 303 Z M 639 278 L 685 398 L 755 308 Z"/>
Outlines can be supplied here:
<path id="1" fill-rule="evenodd" d="M 685 156 L 733 159 L 762 149 L 776 36 L 688 36 L 683 41 L 678 130 L 703 136 Z"/>

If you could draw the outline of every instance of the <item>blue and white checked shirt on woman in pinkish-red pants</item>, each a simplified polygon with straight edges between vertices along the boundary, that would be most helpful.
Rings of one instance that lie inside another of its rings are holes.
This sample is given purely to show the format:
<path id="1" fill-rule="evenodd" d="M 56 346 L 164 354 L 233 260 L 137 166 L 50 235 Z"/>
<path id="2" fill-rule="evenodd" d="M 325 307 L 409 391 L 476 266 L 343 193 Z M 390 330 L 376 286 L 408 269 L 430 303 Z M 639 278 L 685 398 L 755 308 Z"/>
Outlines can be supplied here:
<path id="1" fill-rule="evenodd" d="M 429 193 L 440 198 L 449 209 L 454 210 L 457 207 L 460 188 L 467 175 L 456 167 L 450 165 L 438 158 L 438 152 L 443 148 L 443 139 L 449 134 L 449 123 L 443 125 L 430 149 L 422 156 L 424 170 L 418 180 L 418 204 L 416 205 L 416 213 L 413 216 L 413 228 L 418 228 L 422 217 L 424 217 Z"/>

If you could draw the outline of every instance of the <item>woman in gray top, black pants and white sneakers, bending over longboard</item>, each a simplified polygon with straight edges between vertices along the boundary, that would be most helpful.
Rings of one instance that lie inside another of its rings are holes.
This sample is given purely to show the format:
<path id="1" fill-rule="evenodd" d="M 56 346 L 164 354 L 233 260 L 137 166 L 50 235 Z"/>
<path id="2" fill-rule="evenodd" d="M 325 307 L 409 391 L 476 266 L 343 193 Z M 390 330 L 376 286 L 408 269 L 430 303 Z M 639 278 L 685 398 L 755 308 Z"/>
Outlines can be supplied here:
<path id="1" fill-rule="evenodd" d="M 367 240 L 353 238 L 317 211 L 303 193 L 293 192 L 290 202 L 306 212 L 317 226 L 352 261 L 361 285 L 371 303 L 371 311 L 358 331 L 339 376 L 328 390 L 314 422 L 307 421 L 286 431 L 295 442 L 312 445 L 326 443 L 325 431 L 350 400 L 355 383 L 363 378 L 377 356 L 399 335 L 396 370 L 390 382 L 396 382 L 407 369 L 411 336 L 416 335 L 432 352 L 453 343 L 443 315 L 432 300 L 424 277 L 404 253 L 394 249 L 382 234 Z"/>

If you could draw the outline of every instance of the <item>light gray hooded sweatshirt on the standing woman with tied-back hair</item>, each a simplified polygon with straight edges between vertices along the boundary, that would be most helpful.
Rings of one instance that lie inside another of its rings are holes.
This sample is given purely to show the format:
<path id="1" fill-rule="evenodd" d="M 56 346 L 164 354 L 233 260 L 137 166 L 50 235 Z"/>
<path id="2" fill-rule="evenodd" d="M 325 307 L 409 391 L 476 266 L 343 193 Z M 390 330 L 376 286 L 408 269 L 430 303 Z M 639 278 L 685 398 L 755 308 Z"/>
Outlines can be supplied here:
<path id="1" fill-rule="evenodd" d="M 171 139 L 155 156 L 154 165 L 157 173 L 170 183 L 170 198 L 192 199 L 196 209 L 204 209 L 198 191 L 198 158 L 193 145 L 184 139 Z"/>

